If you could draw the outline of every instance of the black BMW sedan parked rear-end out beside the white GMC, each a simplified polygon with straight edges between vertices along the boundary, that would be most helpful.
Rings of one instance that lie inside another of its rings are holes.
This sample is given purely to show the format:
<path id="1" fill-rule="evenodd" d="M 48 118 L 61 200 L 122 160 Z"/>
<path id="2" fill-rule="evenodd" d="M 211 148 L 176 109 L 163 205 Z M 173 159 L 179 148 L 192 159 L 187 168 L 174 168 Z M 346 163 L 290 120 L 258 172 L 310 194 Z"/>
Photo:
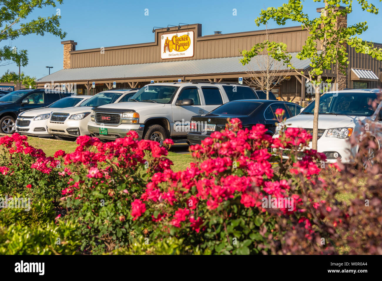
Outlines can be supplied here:
<path id="1" fill-rule="evenodd" d="M 234 100 L 227 102 L 211 112 L 193 116 L 191 131 L 187 134 L 187 141 L 191 145 L 200 144 L 215 131 L 225 129 L 227 118 L 239 118 L 243 128 L 252 128 L 255 124 L 264 124 L 267 134 L 273 136 L 276 128 L 277 108 L 285 110 L 284 117 L 290 118 L 300 113 L 299 105 L 291 102 L 275 100 Z"/>

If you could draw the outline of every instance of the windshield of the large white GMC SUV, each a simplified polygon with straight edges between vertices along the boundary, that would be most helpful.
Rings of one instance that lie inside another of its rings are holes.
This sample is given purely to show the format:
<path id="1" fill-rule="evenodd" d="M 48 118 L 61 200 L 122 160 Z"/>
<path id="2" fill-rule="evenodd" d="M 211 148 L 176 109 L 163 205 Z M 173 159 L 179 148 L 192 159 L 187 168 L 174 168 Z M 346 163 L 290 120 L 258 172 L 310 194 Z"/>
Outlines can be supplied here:
<path id="1" fill-rule="evenodd" d="M 170 103 L 178 87 L 165 85 L 146 85 L 136 92 L 129 102 Z"/>

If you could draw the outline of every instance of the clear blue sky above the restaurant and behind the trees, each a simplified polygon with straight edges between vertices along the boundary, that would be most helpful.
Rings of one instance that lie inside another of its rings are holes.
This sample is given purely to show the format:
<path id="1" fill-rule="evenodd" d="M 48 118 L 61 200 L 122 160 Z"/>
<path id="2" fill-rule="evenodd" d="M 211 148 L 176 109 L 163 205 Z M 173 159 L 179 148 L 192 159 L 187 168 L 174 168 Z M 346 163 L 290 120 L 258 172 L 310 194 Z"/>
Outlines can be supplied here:
<path id="1" fill-rule="evenodd" d="M 254 19 L 262 8 L 281 6 L 286 0 L 241 0 L 241 1 L 121 1 L 121 0 L 64 0 L 63 5 L 56 8 L 38 9 L 31 14 L 49 16 L 61 12 L 61 27 L 68 33 L 65 40 L 74 40 L 78 43 L 76 50 L 100 48 L 117 45 L 153 42 L 154 26 L 165 27 L 168 24 L 179 23 L 202 24 L 202 35 L 214 34 L 214 31 L 223 33 L 242 32 L 264 29 L 257 27 Z M 379 9 L 379 15 L 363 12 L 353 1 L 353 13 L 348 16 L 348 24 L 367 21 L 369 29 L 361 36 L 362 39 L 380 42 L 380 28 L 382 19 L 382 4 L 379 0 L 369 0 Z M 189 3 L 189 4 L 188 4 Z M 313 0 L 304 2 L 304 12 L 315 17 L 316 8 L 322 3 Z M 145 9 L 149 9 L 149 16 L 145 16 Z M 233 9 L 237 16 L 233 16 Z M 287 23 L 285 26 L 296 26 Z M 270 23 L 269 28 L 277 28 L 276 23 Z M 48 74 L 45 66 L 53 66 L 51 73 L 62 69 L 63 45 L 61 39 L 50 34 L 44 37 L 28 35 L 11 42 L 18 49 L 27 49 L 29 55 L 28 66 L 21 69 L 25 74 L 41 78 Z M 1 44 L 8 42 L 2 41 Z M 7 69 L 18 72 L 15 64 L 0 66 L 0 73 Z"/>

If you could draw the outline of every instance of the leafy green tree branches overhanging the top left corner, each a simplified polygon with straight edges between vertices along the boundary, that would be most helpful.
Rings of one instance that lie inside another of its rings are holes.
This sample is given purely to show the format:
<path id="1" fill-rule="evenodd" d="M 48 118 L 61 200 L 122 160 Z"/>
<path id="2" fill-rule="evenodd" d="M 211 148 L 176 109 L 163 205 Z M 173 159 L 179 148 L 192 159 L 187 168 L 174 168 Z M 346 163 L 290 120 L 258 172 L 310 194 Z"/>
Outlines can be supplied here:
<path id="1" fill-rule="evenodd" d="M 32 11 L 42 9 L 47 6 L 56 6 L 56 2 L 62 4 L 63 0 L 0 0 L 0 66 L 16 63 L 18 66 L 28 65 L 28 50 L 16 48 L 11 45 L 11 41 L 26 36 L 36 34 L 44 36 L 50 33 L 64 39 L 66 32 L 60 29 L 61 15 L 57 13 L 48 17 L 38 16 L 37 19 L 28 19 Z M 0 76 L 0 82 L 10 82 L 9 79 L 23 83 L 25 86 L 34 86 L 35 78 L 26 76 L 23 73 L 17 74 L 9 70 Z M 34 84 L 32 83 L 32 81 Z"/>

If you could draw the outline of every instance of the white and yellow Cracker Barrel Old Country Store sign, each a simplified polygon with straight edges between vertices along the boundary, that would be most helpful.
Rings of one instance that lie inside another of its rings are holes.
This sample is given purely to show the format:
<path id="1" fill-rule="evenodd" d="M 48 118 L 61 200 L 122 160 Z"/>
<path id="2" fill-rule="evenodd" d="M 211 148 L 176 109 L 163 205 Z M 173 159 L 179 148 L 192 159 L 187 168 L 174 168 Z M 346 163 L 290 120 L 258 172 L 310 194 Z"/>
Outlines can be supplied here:
<path id="1" fill-rule="evenodd" d="M 189 58 L 194 56 L 194 32 L 176 32 L 162 34 L 160 37 L 160 57 Z"/>

